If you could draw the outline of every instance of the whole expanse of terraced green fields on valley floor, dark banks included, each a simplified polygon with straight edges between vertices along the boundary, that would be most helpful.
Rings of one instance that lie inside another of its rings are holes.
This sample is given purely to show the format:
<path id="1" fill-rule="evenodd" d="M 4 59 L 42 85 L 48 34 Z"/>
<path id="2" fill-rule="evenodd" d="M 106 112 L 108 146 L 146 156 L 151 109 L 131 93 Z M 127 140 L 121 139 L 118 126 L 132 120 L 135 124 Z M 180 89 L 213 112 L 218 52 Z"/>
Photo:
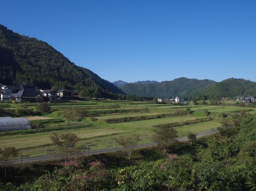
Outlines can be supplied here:
<path id="1" fill-rule="evenodd" d="M 9 106 L 7 106 L 9 105 Z M 35 103 L 6 104 L 6 111 L 26 105 L 36 111 Z M 191 108 L 191 114 L 185 113 Z M 63 116 L 63 112 L 86 111 L 87 116 L 73 121 Z M 207 111 L 207 112 L 206 112 Z M 174 124 L 179 137 L 186 137 L 188 131 L 198 134 L 220 126 L 223 113 L 232 115 L 240 111 L 255 113 L 254 108 L 233 105 L 171 105 L 132 101 L 77 101 L 74 103 L 51 104 L 51 112 L 39 116 L 42 118 L 60 118 L 62 122 L 51 122 L 40 129 L 0 133 L 0 146 L 14 146 L 26 156 L 52 154 L 54 146 L 49 138 L 53 132 L 72 132 L 79 136 L 80 145 L 85 149 L 98 150 L 116 146 L 114 138 L 129 137 L 132 133 L 140 134 L 139 143 L 152 142 L 154 129 L 159 124 Z M 206 114 L 208 113 L 208 114 Z M 28 116 L 25 116 L 28 117 Z M 28 117 L 33 122 L 33 117 Z M 38 120 L 40 121 L 40 120 Z M 179 124 L 180 123 L 180 124 Z M 44 128 L 46 131 L 44 131 Z M 28 134 L 28 132 L 30 132 Z M 118 146 L 118 145 L 117 145 Z"/>

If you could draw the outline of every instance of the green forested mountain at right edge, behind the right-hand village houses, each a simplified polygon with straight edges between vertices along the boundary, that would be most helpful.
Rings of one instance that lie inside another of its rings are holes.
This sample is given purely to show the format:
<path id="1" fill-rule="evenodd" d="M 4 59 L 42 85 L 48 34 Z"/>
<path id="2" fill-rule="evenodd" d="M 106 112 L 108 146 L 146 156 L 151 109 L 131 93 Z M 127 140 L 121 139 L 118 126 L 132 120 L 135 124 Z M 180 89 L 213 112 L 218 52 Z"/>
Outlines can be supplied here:
<path id="1" fill-rule="evenodd" d="M 256 83 L 245 79 L 229 78 L 210 85 L 202 93 L 207 96 L 254 96 L 256 95 Z"/>

